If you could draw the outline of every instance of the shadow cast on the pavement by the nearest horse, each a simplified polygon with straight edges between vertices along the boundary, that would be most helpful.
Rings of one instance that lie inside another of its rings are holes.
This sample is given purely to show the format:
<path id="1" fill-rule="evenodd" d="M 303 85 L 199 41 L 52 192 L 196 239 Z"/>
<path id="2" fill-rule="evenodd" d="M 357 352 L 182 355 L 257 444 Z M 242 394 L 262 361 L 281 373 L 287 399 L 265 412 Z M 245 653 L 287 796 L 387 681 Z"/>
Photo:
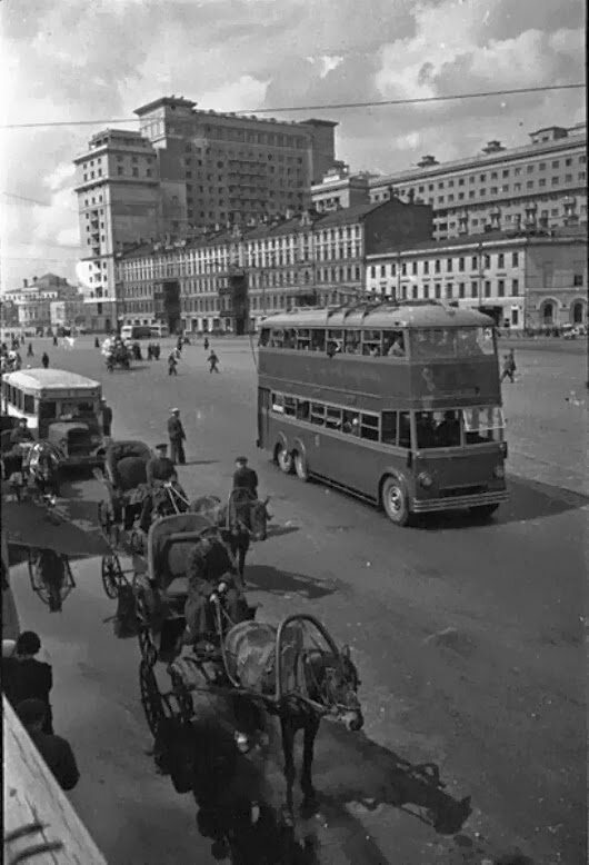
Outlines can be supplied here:
<path id="1" fill-rule="evenodd" d="M 445 792 L 436 764 L 412 765 L 363 733 L 326 725 L 317 756 L 316 783 L 322 814 L 350 819 L 341 806 L 357 803 L 399 808 L 430 825 L 439 835 L 455 835 L 471 814 L 470 796 L 455 799 Z M 337 814 L 335 813 L 337 811 Z"/>

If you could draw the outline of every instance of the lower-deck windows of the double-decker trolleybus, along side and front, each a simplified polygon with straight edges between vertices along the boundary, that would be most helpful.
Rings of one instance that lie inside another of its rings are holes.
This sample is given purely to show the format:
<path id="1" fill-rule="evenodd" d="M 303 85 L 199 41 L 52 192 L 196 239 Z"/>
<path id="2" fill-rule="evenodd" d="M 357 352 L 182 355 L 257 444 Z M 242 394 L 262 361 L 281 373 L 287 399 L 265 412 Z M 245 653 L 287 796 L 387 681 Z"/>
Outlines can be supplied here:
<path id="1" fill-rule="evenodd" d="M 496 406 L 377 414 L 278 392 L 271 395 L 271 410 L 332 432 L 405 449 L 410 449 L 412 443 L 425 449 L 501 441 L 505 424 L 501 409 Z"/>

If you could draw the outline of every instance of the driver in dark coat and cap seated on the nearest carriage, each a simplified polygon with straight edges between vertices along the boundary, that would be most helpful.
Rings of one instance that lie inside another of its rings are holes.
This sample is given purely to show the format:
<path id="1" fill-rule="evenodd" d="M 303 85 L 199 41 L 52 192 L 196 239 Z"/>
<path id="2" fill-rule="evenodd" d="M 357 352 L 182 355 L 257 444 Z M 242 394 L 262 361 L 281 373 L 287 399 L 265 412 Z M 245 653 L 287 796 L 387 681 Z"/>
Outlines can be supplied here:
<path id="1" fill-rule="evenodd" d="M 190 554 L 187 574 L 184 643 L 213 652 L 219 638 L 213 599 L 222 598 L 231 625 L 237 625 L 250 617 L 246 596 L 234 578 L 233 563 L 221 540 L 199 540 Z"/>

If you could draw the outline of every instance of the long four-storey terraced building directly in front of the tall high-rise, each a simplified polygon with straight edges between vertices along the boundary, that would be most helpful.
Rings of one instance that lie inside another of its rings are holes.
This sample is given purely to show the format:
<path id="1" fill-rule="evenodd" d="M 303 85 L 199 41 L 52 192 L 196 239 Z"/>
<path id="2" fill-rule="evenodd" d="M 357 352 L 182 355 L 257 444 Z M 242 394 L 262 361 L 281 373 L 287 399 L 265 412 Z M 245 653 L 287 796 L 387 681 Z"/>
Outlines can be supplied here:
<path id="1" fill-rule="evenodd" d="M 431 208 L 398 199 L 291 212 L 129 248 L 118 257 L 118 294 L 128 324 L 241 334 L 279 309 L 363 295 L 367 256 L 430 237 Z"/>

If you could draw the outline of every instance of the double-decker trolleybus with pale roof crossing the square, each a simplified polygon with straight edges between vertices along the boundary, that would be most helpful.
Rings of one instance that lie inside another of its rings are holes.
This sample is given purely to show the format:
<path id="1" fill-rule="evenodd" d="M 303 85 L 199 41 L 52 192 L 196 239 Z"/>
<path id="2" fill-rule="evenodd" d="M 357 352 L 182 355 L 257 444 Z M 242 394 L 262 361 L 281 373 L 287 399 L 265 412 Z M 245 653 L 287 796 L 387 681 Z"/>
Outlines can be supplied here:
<path id="1" fill-rule="evenodd" d="M 316 477 L 416 514 L 507 499 L 493 321 L 436 302 L 294 309 L 261 325 L 258 447 Z"/>

